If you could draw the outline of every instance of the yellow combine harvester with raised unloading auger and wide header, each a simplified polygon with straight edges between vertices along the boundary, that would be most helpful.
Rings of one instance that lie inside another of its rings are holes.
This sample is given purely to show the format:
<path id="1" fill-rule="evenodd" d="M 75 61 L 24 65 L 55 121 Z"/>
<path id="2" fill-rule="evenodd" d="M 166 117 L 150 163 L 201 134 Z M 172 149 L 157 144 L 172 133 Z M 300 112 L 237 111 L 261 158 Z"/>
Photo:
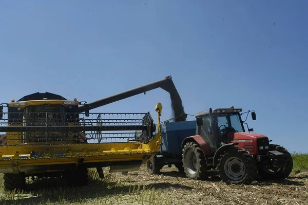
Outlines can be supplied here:
<path id="1" fill-rule="evenodd" d="M 89 167 L 96 167 L 101 178 L 104 166 L 110 166 L 109 172 L 138 171 L 159 151 L 162 105 L 155 107 L 156 136 L 150 113 L 89 110 L 158 87 L 170 88 L 170 95 L 176 91 L 167 77 L 89 104 L 49 92 L 1 104 L 0 173 L 4 173 L 5 188 L 24 189 L 29 176 L 64 177 L 71 185 L 85 185 Z"/>

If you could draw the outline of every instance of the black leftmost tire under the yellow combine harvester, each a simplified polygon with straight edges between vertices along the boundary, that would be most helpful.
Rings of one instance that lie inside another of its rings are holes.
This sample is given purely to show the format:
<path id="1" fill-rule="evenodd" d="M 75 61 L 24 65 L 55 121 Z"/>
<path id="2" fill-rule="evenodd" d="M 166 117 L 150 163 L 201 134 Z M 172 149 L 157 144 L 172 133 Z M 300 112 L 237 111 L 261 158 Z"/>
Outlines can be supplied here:
<path id="1" fill-rule="evenodd" d="M 4 188 L 7 190 L 23 190 L 26 188 L 25 173 L 12 174 L 6 173 L 3 175 Z"/>

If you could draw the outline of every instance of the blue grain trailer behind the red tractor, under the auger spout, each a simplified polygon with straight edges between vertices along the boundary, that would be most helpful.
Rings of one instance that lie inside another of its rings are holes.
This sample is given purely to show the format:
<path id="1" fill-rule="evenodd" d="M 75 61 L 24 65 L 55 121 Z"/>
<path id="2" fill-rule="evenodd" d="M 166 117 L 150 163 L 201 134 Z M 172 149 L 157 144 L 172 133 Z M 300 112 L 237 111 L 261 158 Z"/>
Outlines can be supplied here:
<path id="1" fill-rule="evenodd" d="M 156 156 L 147 162 L 148 173 L 158 174 L 164 165 L 171 167 L 172 164 L 182 172 L 181 144 L 186 137 L 196 135 L 196 127 L 196 120 L 161 123 L 162 145 Z"/>

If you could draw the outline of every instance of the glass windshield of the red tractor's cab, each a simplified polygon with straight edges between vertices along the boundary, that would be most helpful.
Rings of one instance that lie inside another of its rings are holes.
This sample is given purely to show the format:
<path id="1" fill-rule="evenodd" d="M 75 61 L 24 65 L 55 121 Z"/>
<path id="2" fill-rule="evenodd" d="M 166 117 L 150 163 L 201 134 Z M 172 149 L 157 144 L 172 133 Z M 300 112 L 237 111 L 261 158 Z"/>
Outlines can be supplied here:
<path id="1" fill-rule="evenodd" d="M 238 113 L 219 114 L 217 122 L 221 134 L 225 132 L 244 132 Z"/>

